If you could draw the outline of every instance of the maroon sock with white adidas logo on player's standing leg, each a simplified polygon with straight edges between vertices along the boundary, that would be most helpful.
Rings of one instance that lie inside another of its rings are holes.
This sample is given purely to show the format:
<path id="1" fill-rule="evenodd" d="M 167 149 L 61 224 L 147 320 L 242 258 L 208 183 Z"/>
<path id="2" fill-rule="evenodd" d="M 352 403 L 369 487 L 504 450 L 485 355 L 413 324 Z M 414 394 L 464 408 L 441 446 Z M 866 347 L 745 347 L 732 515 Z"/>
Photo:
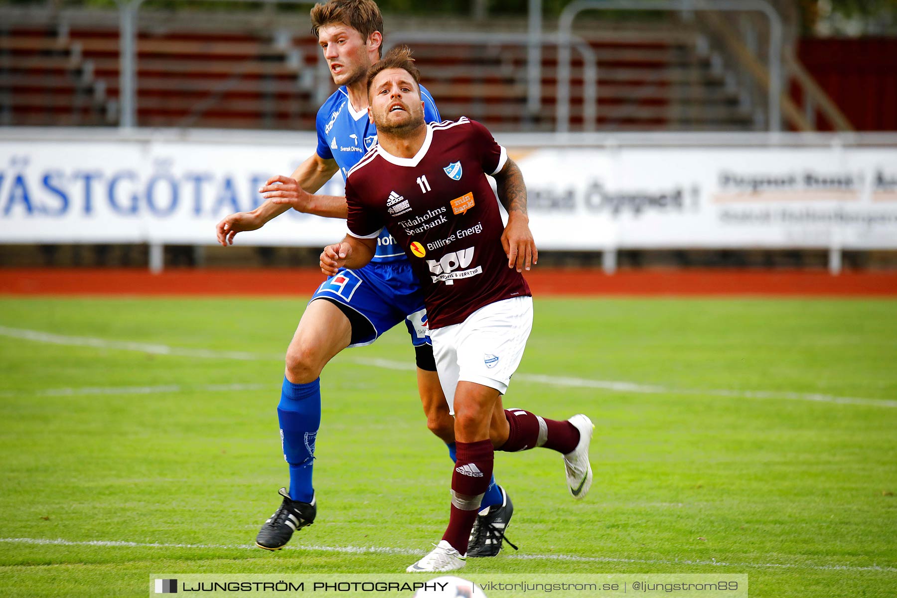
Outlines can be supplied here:
<path id="1" fill-rule="evenodd" d="M 492 479 L 495 454 L 491 440 L 456 442 L 455 447 L 457 458 L 451 476 L 451 513 L 442 539 L 463 555 L 467 553 L 467 541 L 480 510 L 480 501 Z"/>

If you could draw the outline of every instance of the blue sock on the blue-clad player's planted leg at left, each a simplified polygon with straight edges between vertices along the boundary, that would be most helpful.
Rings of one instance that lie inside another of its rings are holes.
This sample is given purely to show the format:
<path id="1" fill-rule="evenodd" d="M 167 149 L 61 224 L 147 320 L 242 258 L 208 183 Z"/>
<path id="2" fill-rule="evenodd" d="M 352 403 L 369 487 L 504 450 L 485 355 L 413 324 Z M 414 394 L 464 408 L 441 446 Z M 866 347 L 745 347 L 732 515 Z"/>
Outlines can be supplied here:
<path id="1" fill-rule="evenodd" d="M 315 439 L 321 427 L 321 379 L 293 384 L 284 376 L 277 419 L 283 439 L 283 459 L 290 464 L 290 498 L 311 502 L 315 496 L 311 485 Z"/>

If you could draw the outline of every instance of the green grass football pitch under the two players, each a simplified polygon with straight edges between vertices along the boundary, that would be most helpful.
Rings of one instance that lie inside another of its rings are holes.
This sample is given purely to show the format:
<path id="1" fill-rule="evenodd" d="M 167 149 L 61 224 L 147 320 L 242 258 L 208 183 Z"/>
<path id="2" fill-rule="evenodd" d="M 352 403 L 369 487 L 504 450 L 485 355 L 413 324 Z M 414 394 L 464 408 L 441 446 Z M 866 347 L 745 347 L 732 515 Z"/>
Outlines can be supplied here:
<path id="1" fill-rule="evenodd" d="M 429 549 L 448 454 L 414 371 L 371 365 L 412 363 L 404 330 L 324 372 L 317 523 L 293 550 L 248 548 L 287 481 L 275 405 L 303 306 L 0 299 L 0 595 L 145 595 L 151 572 L 396 573 Z M 893 596 L 895 399 L 893 300 L 537 299 L 505 404 L 588 413 L 596 481 L 574 501 L 558 455 L 497 454 L 520 551 L 464 571 L 746 573 L 757 597 Z"/>

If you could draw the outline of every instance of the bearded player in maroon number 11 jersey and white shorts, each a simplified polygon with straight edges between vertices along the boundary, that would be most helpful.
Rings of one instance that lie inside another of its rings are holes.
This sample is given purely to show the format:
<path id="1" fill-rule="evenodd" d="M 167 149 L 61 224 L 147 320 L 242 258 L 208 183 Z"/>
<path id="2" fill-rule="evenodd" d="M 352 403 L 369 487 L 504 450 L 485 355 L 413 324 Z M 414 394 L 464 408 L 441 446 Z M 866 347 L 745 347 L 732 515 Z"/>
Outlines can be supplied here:
<path id="1" fill-rule="evenodd" d="M 368 112 L 379 144 L 349 170 L 349 234 L 325 247 L 320 258 L 328 275 L 361 267 L 385 227 L 422 283 L 440 383 L 455 416 L 457 467 L 448 529 L 409 572 L 464 567 L 496 449 L 544 446 L 562 453 L 574 498 L 585 497 L 592 481 L 587 416 L 548 420 L 501 405 L 532 327 L 532 296 L 522 270 L 537 253 L 531 235 L 517 247 L 503 238 L 486 176 L 495 178 L 509 218 L 527 219 L 523 176 L 479 123 L 462 117 L 425 124 L 419 79 L 406 47 L 371 68 Z"/>

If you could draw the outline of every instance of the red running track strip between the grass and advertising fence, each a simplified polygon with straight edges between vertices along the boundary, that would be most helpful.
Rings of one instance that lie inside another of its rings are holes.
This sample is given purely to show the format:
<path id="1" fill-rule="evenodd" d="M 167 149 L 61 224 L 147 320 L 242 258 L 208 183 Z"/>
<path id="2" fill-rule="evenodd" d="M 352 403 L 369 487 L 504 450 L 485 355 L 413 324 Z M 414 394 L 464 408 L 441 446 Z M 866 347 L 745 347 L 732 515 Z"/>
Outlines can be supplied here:
<path id="1" fill-rule="evenodd" d="M 897 273 L 821 271 L 536 269 L 536 296 L 895 297 Z M 0 269 L 4 295 L 304 296 L 324 275 L 312 269 Z"/>

